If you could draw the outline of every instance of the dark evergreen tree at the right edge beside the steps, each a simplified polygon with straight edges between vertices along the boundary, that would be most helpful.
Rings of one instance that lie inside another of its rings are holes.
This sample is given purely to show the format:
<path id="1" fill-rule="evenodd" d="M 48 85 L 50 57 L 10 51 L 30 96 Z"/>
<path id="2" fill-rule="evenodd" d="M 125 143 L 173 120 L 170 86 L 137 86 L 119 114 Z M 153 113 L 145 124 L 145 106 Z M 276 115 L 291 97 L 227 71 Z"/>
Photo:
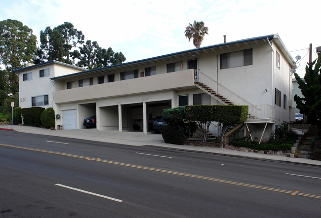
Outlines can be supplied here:
<path id="1" fill-rule="evenodd" d="M 316 63 L 317 62 L 317 63 Z M 314 69 L 313 69 L 314 67 Z M 294 96 L 296 108 L 308 116 L 310 124 L 318 124 L 321 120 L 321 55 L 305 68 L 304 80 L 294 73 L 304 97 Z"/>

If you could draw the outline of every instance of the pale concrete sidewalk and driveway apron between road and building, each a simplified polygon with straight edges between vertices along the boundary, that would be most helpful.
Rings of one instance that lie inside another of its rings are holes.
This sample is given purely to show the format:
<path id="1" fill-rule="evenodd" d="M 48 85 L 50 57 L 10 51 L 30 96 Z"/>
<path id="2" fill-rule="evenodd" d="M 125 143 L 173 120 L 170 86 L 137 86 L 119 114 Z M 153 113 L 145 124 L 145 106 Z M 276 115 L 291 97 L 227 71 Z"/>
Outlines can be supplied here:
<path id="1" fill-rule="evenodd" d="M 11 130 L 11 125 L 0 126 L 0 130 Z M 280 161 L 297 164 L 308 164 L 321 166 L 321 161 L 306 158 L 293 158 L 281 155 L 260 154 L 243 152 L 238 150 L 229 150 L 219 147 L 199 147 L 191 145 L 173 145 L 164 143 L 161 134 L 144 134 L 142 132 L 120 132 L 120 131 L 98 131 L 97 129 L 75 129 L 75 130 L 50 130 L 38 127 L 13 125 L 13 131 L 40 134 L 48 136 L 59 136 L 74 139 L 83 139 L 105 143 L 115 143 L 134 146 L 158 146 L 168 149 L 177 149 L 201 153 L 210 153 L 224 156 L 242 157 L 248 159 Z"/>

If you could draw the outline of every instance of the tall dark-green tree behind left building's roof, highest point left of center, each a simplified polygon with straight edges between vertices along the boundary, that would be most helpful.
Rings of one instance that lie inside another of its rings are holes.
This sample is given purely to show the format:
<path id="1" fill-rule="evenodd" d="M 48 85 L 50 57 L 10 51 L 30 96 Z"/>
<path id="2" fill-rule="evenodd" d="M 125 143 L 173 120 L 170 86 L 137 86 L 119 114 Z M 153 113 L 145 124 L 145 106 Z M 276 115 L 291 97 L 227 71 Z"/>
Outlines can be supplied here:
<path id="1" fill-rule="evenodd" d="M 46 27 L 40 31 L 40 48 L 37 51 L 40 61 L 56 60 L 73 64 L 80 53 L 75 49 L 84 42 L 84 35 L 74 28 L 74 25 L 65 22 L 53 29 Z"/>

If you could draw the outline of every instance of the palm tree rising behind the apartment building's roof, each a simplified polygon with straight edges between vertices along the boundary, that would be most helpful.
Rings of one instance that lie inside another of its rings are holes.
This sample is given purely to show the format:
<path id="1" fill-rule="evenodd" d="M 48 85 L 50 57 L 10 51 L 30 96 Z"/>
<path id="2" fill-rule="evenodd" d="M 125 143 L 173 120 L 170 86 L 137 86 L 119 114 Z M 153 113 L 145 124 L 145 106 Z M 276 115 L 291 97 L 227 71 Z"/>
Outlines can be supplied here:
<path id="1" fill-rule="evenodd" d="M 194 24 L 189 24 L 189 26 L 185 29 L 185 36 L 188 38 L 188 41 L 193 38 L 193 44 L 196 48 L 199 48 L 201 45 L 201 42 L 207 33 L 208 27 L 204 27 L 204 22 L 196 22 L 194 21 Z"/>

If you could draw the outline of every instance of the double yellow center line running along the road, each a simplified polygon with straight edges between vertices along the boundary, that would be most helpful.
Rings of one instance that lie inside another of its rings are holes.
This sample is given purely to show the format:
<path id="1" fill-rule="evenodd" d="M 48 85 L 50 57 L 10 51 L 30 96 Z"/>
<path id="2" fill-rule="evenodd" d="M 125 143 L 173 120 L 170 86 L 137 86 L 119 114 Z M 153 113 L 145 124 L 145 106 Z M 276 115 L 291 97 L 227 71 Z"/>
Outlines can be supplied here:
<path id="1" fill-rule="evenodd" d="M 121 165 L 121 166 L 126 166 L 126 167 L 133 167 L 133 168 L 138 168 L 138 169 L 157 171 L 157 172 L 161 172 L 161 173 L 168 173 L 168 174 L 174 174 L 174 175 L 179 175 L 179 176 L 198 178 L 198 179 L 202 179 L 202 180 L 209 180 L 209 181 L 214 181 L 214 182 L 222 182 L 222 183 L 227 183 L 227 184 L 234 184 L 234 185 L 240 185 L 240 186 L 245 186 L 245 187 L 258 188 L 258 189 L 264 189 L 264 190 L 269 190 L 269 191 L 276 191 L 276 192 L 282 192 L 282 193 L 287 193 L 287 194 L 292 194 L 292 195 L 301 195 L 301 196 L 305 196 L 305 197 L 321 199 L 321 196 L 318 196 L 318 195 L 299 193 L 299 192 L 296 192 L 296 191 L 287 191 L 287 190 L 276 189 L 276 188 L 271 188 L 271 187 L 264 187 L 264 186 L 258 186 L 258 185 L 253 185 L 253 184 L 246 184 L 246 183 L 240 183 L 240 182 L 219 180 L 219 179 L 214 179 L 214 178 L 210 178 L 210 177 L 203 177 L 203 176 L 197 176 L 197 175 L 193 175 L 193 174 L 179 173 L 179 172 L 162 170 L 162 169 L 151 168 L 151 167 L 137 166 L 137 165 L 132 165 L 132 164 L 114 162 L 114 161 L 110 161 L 110 160 L 102 160 L 102 159 L 99 159 L 99 158 L 85 157 L 85 156 L 79 156 L 79 155 L 75 155 L 75 154 L 62 153 L 62 152 L 58 152 L 58 151 L 41 150 L 41 149 L 30 148 L 30 147 L 21 147 L 21 146 L 16 146 L 16 145 L 5 145 L 5 144 L 0 144 L 0 145 L 1 146 L 6 146 L 6 147 L 14 147 L 14 148 L 18 148 L 18 149 L 39 151 L 39 152 L 43 152 L 43 153 L 51 153 L 51 154 L 69 156 L 69 157 L 76 157 L 76 158 L 81 158 L 81 159 L 86 159 L 86 160 L 94 160 L 94 161 L 99 161 L 99 162 L 104 162 L 104 163 L 109 163 L 109 164 L 116 164 L 116 165 Z"/>

